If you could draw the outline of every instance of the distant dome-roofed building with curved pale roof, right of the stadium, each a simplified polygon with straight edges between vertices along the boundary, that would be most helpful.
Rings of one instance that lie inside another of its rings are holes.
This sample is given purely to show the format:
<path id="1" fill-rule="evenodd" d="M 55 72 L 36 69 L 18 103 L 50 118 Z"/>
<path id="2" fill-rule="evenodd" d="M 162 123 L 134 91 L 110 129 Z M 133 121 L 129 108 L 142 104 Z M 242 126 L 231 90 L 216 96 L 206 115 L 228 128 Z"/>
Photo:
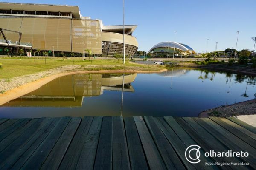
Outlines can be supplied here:
<path id="1" fill-rule="evenodd" d="M 175 57 L 195 54 L 195 51 L 189 47 L 188 45 L 178 43 L 178 42 L 160 42 L 157 45 L 154 45 L 149 52 L 152 53 L 153 57 L 163 57 L 170 58 L 173 57 L 173 53 Z"/>

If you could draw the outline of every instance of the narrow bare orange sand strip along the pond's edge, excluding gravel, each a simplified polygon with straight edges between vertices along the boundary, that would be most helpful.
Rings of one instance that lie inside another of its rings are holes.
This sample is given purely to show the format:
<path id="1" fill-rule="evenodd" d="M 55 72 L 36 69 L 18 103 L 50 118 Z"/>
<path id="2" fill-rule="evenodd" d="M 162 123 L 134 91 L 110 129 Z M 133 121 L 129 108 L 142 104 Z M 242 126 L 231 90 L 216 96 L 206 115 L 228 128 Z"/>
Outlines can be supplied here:
<path id="1" fill-rule="evenodd" d="M 44 77 L 41 79 L 37 79 L 32 82 L 28 82 L 24 85 L 21 85 L 17 88 L 13 88 L 9 91 L 4 92 L 3 94 L 0 94 L 0 105 L 5 104 L 6 102 L 9 102 L 10 100 L 16 99 L 20 96 L 23 96 L 25 94 L 30 93 L 31 91 L 34 91 L 41 86 L 47 84 L 48 82 L 62 76 L 67 76 L 70 74 L 87 74 L 87 73 L 159 73 L 167 71 L 167 69 L 162 69 L 159 71 L 138 71 L 138 70 L 99 70 L 99 71 L 70 71 L 70 72 L 64 72 L 64 73 L 58 73 L 50 75 L 49 77 Z"/>

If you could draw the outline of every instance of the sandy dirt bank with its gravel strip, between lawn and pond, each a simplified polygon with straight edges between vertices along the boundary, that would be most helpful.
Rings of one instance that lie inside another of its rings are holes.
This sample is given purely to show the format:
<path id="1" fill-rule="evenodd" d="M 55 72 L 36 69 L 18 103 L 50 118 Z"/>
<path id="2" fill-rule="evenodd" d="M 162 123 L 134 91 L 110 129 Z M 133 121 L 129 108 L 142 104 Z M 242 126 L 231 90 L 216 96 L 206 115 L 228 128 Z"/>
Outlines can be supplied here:
<path id="1" fill-rule="evenodd" d="M 162 69 L 159 71 L 143 71 L 143 70 L 99 70 L 99 71 L 80 71 L 79 65 L 66 65 L 60 68 L 51 69 L 48 71 L 43 71 L 36 74 L 25 75 L 20 77 L 15 77 L 11 81 L 6 81 L 3 79 L 0 81 L 0 90 L 3 92 L 0 94 L 0 105 L 3 105 L 10 100 L 16 99 L 23 96 L 31 91 L 40 88 L 47 82 L 50 82 L 58 77 L 66 76 L 70 74 L 86 74 L 86 73 L 157 73 L 163 72 L 167 69 Z"/>

